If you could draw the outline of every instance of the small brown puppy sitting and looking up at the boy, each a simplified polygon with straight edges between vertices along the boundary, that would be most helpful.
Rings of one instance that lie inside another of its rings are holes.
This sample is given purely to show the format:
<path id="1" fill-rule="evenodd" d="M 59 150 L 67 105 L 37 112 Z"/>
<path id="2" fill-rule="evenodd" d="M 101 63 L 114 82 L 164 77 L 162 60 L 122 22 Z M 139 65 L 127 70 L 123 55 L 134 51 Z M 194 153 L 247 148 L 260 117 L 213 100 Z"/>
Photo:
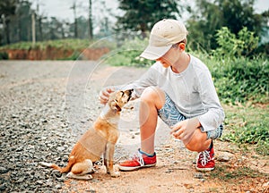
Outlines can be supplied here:
<path id="1" fill-rule="evenodd" d="M 93 171 L 92 163 L 99 161 L 103 155 L 107 172 L 112 177 L 118 177 L 119 172 L 113 168 L 113 156 L 115 144 L 119 136 L 117 124 L 121 109 L 130 100 L 133 89 L 117 91 L 109 96 L 109 100 L 100 117 L 90 130 L 87 130 L 82 138 L 74 145 L 69 155 L 68 164 L 61 168 L 56 164 L 40 163 L 44 166 L 54 168 L 59 172 L 68 172 L 68 178 L 79 180 L 92 179 L 90 172 Z"/>

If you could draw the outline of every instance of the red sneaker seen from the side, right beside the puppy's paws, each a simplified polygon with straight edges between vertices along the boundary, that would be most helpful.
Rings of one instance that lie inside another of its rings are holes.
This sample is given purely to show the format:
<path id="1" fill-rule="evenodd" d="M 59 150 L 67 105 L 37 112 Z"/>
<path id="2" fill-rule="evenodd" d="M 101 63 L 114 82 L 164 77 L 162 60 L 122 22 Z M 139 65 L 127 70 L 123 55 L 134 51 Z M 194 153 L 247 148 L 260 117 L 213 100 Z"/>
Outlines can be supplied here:
<path id="1" fill-rule="evenodd" d="M 134 171 L 143 167 L 152 167 L 155 166 L 156 154 L 149 156 L 143 154 L 143 152 L 138 149 L 137 155 L 134 155 L 131 160 L 126 160 L 123 163 L 118 164 L 118 168 L 121 171 Z"/>

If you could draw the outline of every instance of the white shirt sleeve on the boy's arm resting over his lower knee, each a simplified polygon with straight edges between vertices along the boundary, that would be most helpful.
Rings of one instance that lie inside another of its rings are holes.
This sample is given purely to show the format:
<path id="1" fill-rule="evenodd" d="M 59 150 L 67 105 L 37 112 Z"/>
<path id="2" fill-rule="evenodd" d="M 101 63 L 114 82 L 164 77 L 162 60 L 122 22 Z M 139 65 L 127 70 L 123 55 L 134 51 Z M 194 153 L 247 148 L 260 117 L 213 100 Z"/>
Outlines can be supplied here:
<path id="1" fill-rule="evenodd" d="M 197 80 L 202 105 L 206 112 L 198 116 L 198 120 L 203 127 L 203 131 L 215 130 L 224 121 L 225 114 L 213 85 L 210 71 L 204 70 L 202 73 L 197 74 Z"/>

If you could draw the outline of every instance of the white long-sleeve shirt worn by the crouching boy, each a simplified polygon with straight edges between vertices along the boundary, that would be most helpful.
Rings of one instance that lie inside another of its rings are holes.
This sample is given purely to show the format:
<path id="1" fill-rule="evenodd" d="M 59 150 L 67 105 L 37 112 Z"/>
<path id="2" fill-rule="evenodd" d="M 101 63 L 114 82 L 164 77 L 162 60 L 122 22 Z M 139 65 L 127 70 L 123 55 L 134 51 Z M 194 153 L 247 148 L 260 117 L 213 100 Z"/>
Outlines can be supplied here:
<path id="1" fill-rule="evenodd" d="M 215 130 L 224 121 L 212 75 L 207 66 L 193 55 L 190 55 L 185 71 L 175 73 L 157 62 L 127 88 L 134 88 L 134 94 L 139 97 L 144 88 L 151 86 L 165 91 L 184 116 L 197 117 L 204 131 Z"/>

